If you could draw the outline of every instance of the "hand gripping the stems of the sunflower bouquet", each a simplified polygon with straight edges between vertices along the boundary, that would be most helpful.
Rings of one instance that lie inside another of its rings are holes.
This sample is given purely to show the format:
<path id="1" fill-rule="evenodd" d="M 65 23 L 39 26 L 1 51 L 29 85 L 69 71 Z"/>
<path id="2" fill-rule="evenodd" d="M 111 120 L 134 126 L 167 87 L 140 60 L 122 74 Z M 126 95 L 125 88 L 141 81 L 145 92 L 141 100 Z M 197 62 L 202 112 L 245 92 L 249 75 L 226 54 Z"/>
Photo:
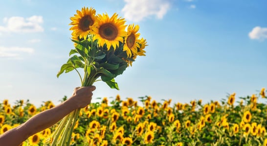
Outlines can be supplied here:
<path id="1" fill-rule="evenodd" d="M 78 108 L 84 108 L 91 103 L 94 90 L 95 86 L 76 87 L 69 100 L 72 100 L 71 102 L 75 103 Z"/>

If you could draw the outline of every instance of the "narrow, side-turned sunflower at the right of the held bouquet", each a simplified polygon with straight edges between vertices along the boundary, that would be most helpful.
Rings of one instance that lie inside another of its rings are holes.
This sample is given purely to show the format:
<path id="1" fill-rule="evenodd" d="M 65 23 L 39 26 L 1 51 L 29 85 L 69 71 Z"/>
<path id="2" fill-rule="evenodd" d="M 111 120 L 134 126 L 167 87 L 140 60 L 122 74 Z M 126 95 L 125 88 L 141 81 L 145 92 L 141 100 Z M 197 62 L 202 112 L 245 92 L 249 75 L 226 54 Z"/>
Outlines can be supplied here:
<path id="1" fill-rule="evenodd" d="M 130 24 L 128 25 L 128 31 L 125 38 L 125 43 L 123 46 L 123 51 L 126 51 L 128 57 L 132 57 L 132 55 L 137 54 L 137 47 L 140 48 L 138 37 L 140 36 L 137 33 L 139 30 L 139 25 Z"/>

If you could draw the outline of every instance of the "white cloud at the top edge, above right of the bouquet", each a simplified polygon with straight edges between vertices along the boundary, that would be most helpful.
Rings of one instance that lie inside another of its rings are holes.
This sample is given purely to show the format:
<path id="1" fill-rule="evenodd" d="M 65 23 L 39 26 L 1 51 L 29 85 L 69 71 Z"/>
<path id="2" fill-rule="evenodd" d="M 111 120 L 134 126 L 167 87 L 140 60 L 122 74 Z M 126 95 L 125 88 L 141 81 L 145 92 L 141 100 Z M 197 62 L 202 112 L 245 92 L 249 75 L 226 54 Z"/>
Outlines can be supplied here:
<path id="1" fill-rule="evenodd" d="M 170 9 L 169 0 L 124 0 L 126 2 L 122 9 L 124 18 L 132 21 L 141 21 L 142 19 L 155 15 L 156 18 L 163 16 Z"/>

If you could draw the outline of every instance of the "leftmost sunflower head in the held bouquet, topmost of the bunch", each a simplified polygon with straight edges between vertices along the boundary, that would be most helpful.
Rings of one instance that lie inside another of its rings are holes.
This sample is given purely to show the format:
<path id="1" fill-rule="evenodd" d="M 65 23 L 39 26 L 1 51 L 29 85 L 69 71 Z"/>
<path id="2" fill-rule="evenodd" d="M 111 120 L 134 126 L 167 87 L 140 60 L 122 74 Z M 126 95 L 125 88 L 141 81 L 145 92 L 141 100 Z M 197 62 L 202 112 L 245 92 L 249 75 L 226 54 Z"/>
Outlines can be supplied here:
<path id="1" fill-rule="evenodd" d="M 72 21 L 69 25 L 73 25 L 69 30 L 72 30 L 72 36 L 79 36 L 79 38 L 84 38 L 90 33 L 90 26 L 94 24 L 96 20 L 95 9 L 93 8 L 82 8 L 82 11 L 77 10 L 77 14 L 71 17 Z"/>

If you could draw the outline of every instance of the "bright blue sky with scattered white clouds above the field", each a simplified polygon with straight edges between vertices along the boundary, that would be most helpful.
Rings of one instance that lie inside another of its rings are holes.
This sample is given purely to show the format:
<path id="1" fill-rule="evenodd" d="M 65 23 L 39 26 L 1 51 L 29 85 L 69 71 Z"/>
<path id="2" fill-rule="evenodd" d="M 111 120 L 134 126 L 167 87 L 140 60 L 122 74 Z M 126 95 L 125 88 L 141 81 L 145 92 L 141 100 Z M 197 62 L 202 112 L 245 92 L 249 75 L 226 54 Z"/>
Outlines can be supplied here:
<path id="1" fill-rule="evenodd" d="M 94 84 L 93 102 L 120 94 L 206 103 L 267 88 L 266 0 L 1 0 L 0 101 L 58 103 L 80 86 L 77 73 L 56 74 L 73 48 L 69 18 L 84 6 L 138 24 L 149 45 L 115 78 L 119 91 Z"/>

